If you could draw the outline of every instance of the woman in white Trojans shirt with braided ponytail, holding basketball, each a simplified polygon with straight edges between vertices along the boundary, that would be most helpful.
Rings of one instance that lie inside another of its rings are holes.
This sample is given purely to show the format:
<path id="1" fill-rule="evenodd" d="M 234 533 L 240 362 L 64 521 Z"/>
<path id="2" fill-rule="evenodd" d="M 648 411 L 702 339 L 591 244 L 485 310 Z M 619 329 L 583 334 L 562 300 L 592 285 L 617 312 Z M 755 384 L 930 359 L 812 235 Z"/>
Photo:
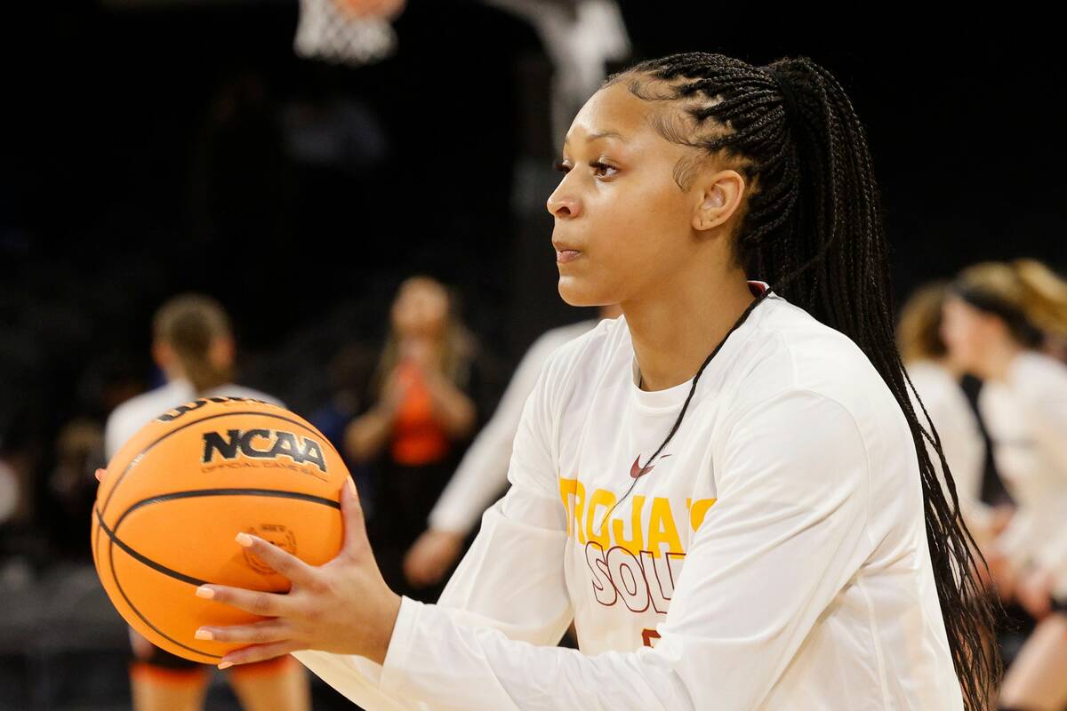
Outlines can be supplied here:
<path id="1" fill-rule="evenodd" d="M 384 584 L 346 487 L 334 561 L 238 534 L 292 586 L 202 585 L 266 619 L 193 636 L 241 645 L 224 667 L 292 652 L 370 711 L 985 708 L 991 613 L 838 81 L 808 58 L 641 62 L 558 166 L 560 295 L 623 316 L 548 358 L 440 602 Z M 572 619 L 579 648 L 553 646 Z"/>

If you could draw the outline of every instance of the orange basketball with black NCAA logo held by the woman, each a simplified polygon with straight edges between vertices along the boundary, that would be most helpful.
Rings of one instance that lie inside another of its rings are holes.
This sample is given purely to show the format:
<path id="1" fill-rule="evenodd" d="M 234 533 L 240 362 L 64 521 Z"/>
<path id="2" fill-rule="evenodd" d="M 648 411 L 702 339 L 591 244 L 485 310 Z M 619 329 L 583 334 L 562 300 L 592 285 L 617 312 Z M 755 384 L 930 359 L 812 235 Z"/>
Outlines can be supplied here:
<path id="1" fill-rule="evenodd" d="M 161 414 L 108 465 L 91 540 L 112 604 L 153 644 L 218 664 L 241 646 L 195 640 L 202 625 L 258 619 L 194 595 L 203 583 L 285 592 L 288 581 L 234 540 L 254 533 L 312 565 L 340 550 L 349 473 L 289 410 L 209 398 Z"/>

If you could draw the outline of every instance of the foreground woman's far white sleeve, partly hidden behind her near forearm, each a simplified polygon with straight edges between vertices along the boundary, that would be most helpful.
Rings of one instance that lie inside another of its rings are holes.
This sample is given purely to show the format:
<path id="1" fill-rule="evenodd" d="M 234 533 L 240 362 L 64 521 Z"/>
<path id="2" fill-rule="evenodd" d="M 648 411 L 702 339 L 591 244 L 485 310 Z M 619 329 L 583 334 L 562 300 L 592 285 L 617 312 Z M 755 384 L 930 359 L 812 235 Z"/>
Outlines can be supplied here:
<path id="1" fill-rule="evenodd" d="M 541 645 L 558 643 L 573 618 L 563 578 L 567 519 L 551 445 L 550 413 L 558 407 L 551 366 L 550 358 L 523 409 L 508 469 L 511 487 L 482 516 L 477 537 L 434 605 L 464 625 Z M 382 666 L 361 657 L 317 650 L 293 657 L 367 711 L 440 708 L 432 699 L 385 686 Z"/>

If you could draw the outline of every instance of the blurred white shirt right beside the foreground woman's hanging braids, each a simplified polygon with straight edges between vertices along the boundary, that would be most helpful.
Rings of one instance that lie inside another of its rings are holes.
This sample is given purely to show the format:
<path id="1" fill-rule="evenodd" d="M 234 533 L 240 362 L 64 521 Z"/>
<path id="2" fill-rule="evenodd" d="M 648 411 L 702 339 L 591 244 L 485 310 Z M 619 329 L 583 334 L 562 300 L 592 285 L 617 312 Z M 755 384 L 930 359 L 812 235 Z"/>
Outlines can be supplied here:
<path id="1" fill-rule="evenodd" d="M 992 511 L 982 501 L 982 480 L 985 474 L 986 443 L 982 438 L 978 419 L 974 416 L 959 382 L 946 368 L 931 360 L 909 362 L 908 377 L 919 392 L 930 421 L 941 438 L 944 458 L 956 482 L 956 495 L 964 519 L 980 544 L 992 538 Z M 920 424 L 928 427 L 926 418 L 914 397 L 912 407 Z M 941 458 L 934 446 L 926 442 L 926 451 L 944 485 Z M 949 499 L 945 489 L 945 499 Z"/>

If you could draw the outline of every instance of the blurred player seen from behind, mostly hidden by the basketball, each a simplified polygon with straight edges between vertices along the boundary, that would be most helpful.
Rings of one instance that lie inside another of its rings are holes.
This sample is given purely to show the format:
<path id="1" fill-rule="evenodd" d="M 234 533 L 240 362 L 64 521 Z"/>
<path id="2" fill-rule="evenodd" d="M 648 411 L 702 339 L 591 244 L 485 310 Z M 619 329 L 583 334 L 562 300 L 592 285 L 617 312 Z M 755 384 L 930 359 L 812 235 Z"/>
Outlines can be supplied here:
<path id="1" fill-rule="evenodd" d="M 235 385 L 235 342 L 229 317 L 216 300 L 181 294 L 164 303 L 153 319 L 152 355 L 166 384 L 131 398 L 108 417 L 108 460 L 160 413 L 197 398 L 236 397 L 284 407 L 267 393 Z M 154 646 L 130 629 L 133 658 L 130 685 L 137 711 L 194 711 L 204 705 L 209 665 L 191 662 Z M 281 659 L 230 674 L 229 682 L 246 711 L 303 711 L 310 708 L 307 674 Z"/>

